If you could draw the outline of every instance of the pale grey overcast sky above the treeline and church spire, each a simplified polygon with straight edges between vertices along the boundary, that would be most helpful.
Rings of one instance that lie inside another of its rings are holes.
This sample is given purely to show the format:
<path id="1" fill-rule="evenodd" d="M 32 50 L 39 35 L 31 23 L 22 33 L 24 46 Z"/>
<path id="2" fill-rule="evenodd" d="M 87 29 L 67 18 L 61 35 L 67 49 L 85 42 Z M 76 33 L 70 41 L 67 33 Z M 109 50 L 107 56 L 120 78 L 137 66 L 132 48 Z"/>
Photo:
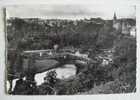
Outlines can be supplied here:
<path id="1" fill-rule="evenodd" d="M 81 19 L 101 17 L 112 19 L 114 12 L 118 18 L 135 18 L 135 6 L 110 5 L 36 5 L 9 6 L 7 18 L 64 18 Z"/>

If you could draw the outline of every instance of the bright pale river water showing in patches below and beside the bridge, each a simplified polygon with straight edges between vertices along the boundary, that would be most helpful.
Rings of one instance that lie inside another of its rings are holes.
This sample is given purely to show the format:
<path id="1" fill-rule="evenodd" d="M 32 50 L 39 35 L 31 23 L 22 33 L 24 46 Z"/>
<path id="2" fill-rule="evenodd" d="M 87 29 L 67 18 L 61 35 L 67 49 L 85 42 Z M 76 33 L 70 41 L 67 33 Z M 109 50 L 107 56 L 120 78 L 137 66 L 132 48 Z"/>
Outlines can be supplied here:
<path id="1" fill-rule="evenodd" d="M 108 56 L 110 54 L 112 55 L 112 53 L 105 53 L 105 54 L 107 54 Z M 79 54 L 77 54 L 77 55 L 79 56 Z M 101 57 L 103 55 L 104 54 L 99 55 L 98 58 L 103 59 L 102 65 L 104 66 L 104 65 L 107 65 L 109 62 L 104 57 Z M 112 57 L 106 57 L 106 58 L 112 60 Z M 66 79 L 66 78 L 76 75 L 76 66 L 73 64 L 66 64 L 63 67 L 52 69 L 52 70 L 56 71 L 57 78 L 59 78 L 59 79 Z M 44 82 L 44 77 L 46 76 L 47 72 L 48 71 L 35 75 L 35 81 L 36 81 L 37 85 L 40 85 Z M 16 80 L 17 79 L 13 80 L 13 87 L 15 86 Z M 9 88 L 9 83 L 7 82 L 7 89 L 8 88 Z"/>

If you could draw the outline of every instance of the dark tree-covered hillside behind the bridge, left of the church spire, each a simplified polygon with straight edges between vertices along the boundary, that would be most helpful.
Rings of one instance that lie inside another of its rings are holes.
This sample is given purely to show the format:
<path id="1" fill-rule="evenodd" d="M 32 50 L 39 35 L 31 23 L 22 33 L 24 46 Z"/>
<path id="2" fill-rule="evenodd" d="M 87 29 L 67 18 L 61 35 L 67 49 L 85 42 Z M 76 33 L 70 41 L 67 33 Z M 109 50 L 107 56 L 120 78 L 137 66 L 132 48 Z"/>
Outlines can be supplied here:
<path id="1" fill-rule="evenodd" d="M 92 20 L 96 21 L 96 19 Z M 97 21 L 103 22 L 101 19 L 97 19 Z M 96 43 L 97 33 L 103 25 L 86 23 L 84 20 L 77 21 L 77 25 L 74 25 L 72 21 L 66 22 L 63 20 L 60 20 L 60 25 L 54 23 L 53 26 L 45 22 L 42 24 L 39 22 L 39 19 L 28 19 L 26 21 L 14 18 L 8 20 L 8 23 L 11 24 L 7 26 L 9 48 L 18 48 L 17 45 L 20 45 L 23 39 L 27 41 L 25 50 L 52 48 L 52 45 L 56 43 L 62 47 L 92 46 L 93 43 Z"/>

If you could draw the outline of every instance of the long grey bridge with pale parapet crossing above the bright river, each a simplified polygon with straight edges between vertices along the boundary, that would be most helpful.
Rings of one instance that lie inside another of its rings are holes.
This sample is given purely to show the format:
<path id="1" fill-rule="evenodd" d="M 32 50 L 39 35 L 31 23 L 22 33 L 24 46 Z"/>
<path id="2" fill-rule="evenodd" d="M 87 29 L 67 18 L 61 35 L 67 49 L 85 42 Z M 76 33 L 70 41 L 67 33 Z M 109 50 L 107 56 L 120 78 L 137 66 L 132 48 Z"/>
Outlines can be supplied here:
<path id="1" fill-rule="evenodd" d="M 65 64 L 81 64 L 82 66 L 87 65 L 89 63 L 96 63 L 96 61 L 92 60 L 91 58 L 83 57 L 82 54 L 76 55 L 75 53 L 64 51 L 25 51 L 23 55 L 25 58 L 28 58 L 30 63 L 32 63 L 30 64 L 31 66 L 24 66 L 24 68 L 28 68 L 28 70 L 34 70 L 35 73 L 41 73 L 43 71 L 61 67 Z"/>

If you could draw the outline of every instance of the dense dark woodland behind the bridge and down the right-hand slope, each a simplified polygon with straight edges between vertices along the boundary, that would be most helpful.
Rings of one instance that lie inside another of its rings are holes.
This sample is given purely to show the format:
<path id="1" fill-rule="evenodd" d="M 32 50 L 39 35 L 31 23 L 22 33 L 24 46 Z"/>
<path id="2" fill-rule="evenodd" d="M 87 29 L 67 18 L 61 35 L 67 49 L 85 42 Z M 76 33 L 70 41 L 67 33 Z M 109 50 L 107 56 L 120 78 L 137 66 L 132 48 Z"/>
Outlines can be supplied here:
<path id="1" fill-rule="evenodd" d="M 107 66 L 90 64 L 69 80 L 54 82 L 58 94 L 129 93 L 136 91 L 136 38 L 123 35 L 112 27 L 112 20 L 19 19 L 7 20 L 7 46 L 10 49 L 60 48 L 90 50 L 95 59 L 103 49 L 113 49 L 113 62 Z M 135 21 L 134 21 L 135 22 Z M 76 24 L 75 24 L 76 23 Z M 98 61 L 98 60 L 97 60 Z M 51 73 L 51 72 L 50 72 Z M 51 83 L 52 84 L 52 83 Z M 43 94 L 43 85 L 39 93 Z"/>

